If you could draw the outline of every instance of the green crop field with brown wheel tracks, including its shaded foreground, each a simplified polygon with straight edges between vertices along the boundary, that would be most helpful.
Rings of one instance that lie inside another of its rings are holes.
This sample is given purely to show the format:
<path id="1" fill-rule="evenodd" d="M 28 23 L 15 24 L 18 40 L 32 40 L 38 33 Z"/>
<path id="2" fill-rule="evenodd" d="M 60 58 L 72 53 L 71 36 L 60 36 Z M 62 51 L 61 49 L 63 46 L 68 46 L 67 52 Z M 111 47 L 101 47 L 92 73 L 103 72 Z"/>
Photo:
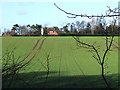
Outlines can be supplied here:
<path id="1" fill-rule="evenodd" d="M 100 48 L 103 57 L 105 37 L 79 39 Z M 118 51 L 118 37 L 114 37 L 105 62 L 105 76 L 113 88 L 118 87 Z M 104 88 L 101 67 L 92 56 L 73 37 L 2 37 L 3 69 L 20 61 L 24 65 L 3 78 L 3 88 Z"/>

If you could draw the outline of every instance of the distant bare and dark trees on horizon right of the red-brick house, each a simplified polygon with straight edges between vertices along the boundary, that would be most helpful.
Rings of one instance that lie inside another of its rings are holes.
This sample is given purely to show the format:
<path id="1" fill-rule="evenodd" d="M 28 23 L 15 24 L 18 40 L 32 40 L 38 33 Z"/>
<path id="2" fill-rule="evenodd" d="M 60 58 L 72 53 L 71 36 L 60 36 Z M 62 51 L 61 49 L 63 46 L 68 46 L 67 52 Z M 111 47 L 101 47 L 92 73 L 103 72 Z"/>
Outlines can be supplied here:
<path id="1" fill-rule="evenodd" d="M 76 21 L 75 23 L 67 23 L 63 26 L 63 29 L 67 33 L 77 33 L 80 35 L 105 35 L 106 31 L 111 35 L 112 30 L 114 30 L 114 34 L 118 35 L 120 27 L 116 25 L 116 20 L 114 19 L 109 23 L 110 24 L 107 25 L 105 20 L 97 18 L 96 20 L 92 19 L 91 22 Z"/>

